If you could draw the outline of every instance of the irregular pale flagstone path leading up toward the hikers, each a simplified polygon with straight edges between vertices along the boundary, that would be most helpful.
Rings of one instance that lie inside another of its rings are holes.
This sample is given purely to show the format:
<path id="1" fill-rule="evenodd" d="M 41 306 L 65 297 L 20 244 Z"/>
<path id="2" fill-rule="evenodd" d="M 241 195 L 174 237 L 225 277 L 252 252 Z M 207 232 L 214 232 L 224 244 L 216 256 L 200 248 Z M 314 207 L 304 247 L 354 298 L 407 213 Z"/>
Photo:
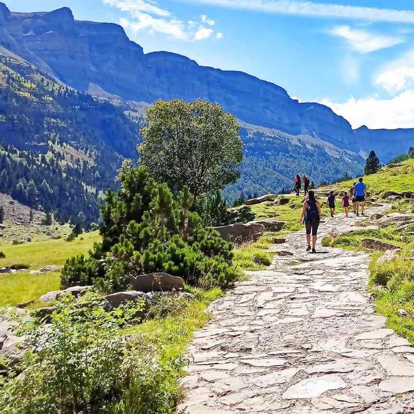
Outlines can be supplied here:
<path id="1" fill-rule="evenodd" d="M 355 222 L 328 218 L 320 239 Z M 291 254 L 211 305 L 177 413 L 414 412 L 414 348 L 375 314 L 369 256 L 321 245 L 307 253 L 303 231 L 286 239 L 272 249 Z"/>

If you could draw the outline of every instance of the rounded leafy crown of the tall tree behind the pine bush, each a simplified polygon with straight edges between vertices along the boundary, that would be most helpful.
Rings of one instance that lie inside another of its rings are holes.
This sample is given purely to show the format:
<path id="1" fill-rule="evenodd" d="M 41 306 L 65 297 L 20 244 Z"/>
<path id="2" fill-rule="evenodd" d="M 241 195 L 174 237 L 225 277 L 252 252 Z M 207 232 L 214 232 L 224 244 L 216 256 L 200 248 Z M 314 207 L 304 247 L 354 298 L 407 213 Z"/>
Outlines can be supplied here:
<path id="1" fill-rule="evenodd" d="M 147 122 L 138 146 L 140 163 L 174 194 L 188 186 L 197 199 L 238 178 L 240 126 L 220 105 L 202 99 L 158 100 L 148 109 Z"/>

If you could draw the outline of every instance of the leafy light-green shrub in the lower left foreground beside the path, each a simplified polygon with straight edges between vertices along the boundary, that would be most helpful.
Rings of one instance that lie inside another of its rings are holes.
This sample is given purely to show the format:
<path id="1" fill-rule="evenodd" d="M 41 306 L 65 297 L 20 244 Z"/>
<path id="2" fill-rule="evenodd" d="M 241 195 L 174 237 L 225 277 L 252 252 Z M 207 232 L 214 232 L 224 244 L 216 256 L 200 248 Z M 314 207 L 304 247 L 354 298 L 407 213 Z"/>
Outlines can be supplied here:
<path id="1" fill-rule="evenodd" d="M 105 305 L 93 293 L 67 295 L 50 324 L 21 326 L 28 351 L 21 375 L 0 382 L 0 414 L 172 413 L 183 361 L 160 358 L 145 336 L 126 341 L 121 328 L 138 309 L 106 312 Z"/>

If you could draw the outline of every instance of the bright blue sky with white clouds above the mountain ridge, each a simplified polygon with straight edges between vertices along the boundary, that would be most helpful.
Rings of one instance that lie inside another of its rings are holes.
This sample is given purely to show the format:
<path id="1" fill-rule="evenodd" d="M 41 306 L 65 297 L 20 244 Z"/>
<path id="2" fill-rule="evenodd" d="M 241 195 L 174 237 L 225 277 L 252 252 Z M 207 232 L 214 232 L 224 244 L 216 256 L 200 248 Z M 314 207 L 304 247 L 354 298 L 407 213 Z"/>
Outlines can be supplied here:
<path id="1" fill-rule="evenodd" d="M 2 0 L 122 25 L 144 52 L 238 70 L 353 128 L 414 128 L 413 0 Z"/>

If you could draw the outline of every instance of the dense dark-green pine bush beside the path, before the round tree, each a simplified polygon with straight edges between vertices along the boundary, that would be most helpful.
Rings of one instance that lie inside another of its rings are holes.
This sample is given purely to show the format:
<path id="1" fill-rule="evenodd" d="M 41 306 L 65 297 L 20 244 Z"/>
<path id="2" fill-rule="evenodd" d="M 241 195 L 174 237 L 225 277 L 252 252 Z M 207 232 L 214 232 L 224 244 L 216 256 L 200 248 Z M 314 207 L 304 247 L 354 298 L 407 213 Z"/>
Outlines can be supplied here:
<path id="1" fill-rule="evenodd" d="M 205 229 L 191 211 L 188 189 L 173 197 L 155 183 L 145 167 L 124 163 L 118 173 L 121 189 L 108 192 L 100 232 L 90 257 L 69 259 L 62 284 L 96 284 L 106 292 L 128 288 L 130 276 L 166 272 L 194 286 L 226 287 L 237 278 L 233 245 L 213 229 Z"/>

